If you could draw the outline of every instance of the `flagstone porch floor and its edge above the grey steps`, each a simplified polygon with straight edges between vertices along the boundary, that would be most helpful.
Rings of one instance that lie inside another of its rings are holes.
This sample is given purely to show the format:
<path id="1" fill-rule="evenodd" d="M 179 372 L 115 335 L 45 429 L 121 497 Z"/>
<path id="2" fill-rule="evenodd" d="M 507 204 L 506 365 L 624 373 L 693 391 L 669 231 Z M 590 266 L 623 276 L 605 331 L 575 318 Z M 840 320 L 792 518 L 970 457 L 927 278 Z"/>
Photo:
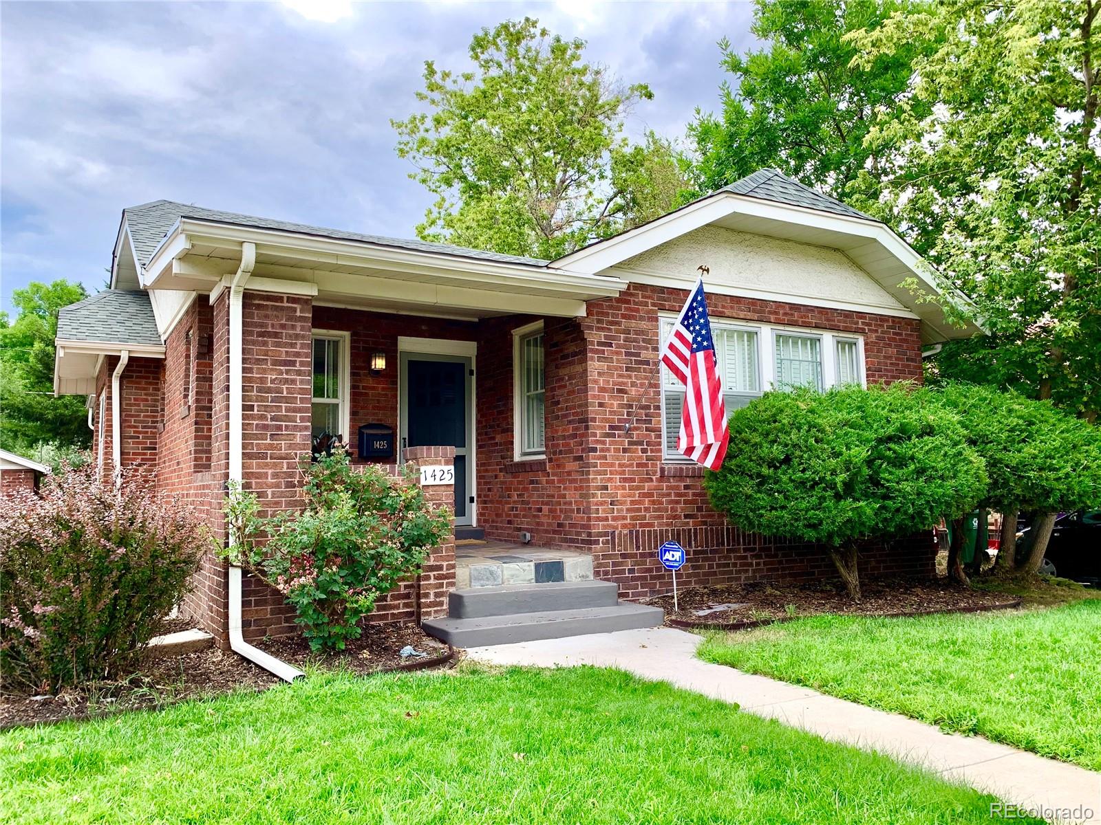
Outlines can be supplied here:
<path id="1" fill-rule="evenodd" d="M 592 557 L 585 553 L 513 541 L 460 539 L 455 542 L 456 590 L 591 580 Z"/>

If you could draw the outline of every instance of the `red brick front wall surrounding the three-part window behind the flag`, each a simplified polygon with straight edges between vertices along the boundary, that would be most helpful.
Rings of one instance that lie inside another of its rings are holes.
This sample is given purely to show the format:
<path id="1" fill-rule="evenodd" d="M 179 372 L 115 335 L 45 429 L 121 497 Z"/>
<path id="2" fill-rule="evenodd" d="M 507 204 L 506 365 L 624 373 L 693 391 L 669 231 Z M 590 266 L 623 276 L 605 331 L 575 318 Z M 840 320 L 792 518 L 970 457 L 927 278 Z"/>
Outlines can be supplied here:
<path id="1" fill-rule="evenodd" d="M 707 502 L 701 469 L 662 461 L 661 394 L 653 376 L 658 312 L 676 314 L 686 297 L 685 290 L 634 284 L 618 298 L 591 301 L 581 319 L 592 400 L 588 451 L 593 457 L 591 525 L 599 544 L 596 575 L 620 582 L 632 597 L 667 588 L 656 547 L 666 540 L 662 536 L 684 528 L 690 528 L 680 534 L 690 551 L 682 573 L 686 584 L 832 574 L 821 551 L 808 556 L 792 542 L 728 527 Z M 712 318 L 857 333 L 864 337 L 870 384 L 922 380 L 914 319 L 723 295 L 709 295 L 708 309 Z M 631 432 L 624 433 L 632 414 Z M 928 540 L 872 552 L 865 570 L 931 574 L 933 559 L 930 534 Z"/>

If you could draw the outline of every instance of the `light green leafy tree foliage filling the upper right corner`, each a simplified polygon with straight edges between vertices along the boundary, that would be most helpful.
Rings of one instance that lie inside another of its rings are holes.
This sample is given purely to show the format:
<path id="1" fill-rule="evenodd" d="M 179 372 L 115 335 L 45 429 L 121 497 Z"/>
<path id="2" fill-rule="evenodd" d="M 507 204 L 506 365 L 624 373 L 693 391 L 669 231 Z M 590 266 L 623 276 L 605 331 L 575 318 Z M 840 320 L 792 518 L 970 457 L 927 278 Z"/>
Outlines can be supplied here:
<path id="1" fill-rule="evenodd" d="M 865 143 L 894 153 L 883 198 L 895 222 L 924 235 L 990 331 L 946 348 L 941 371 L 1089 420 L 1101 407 L 1099 10 L 952 0 L 846 37 L 862 70 L 937 44 L 913 57 L 907 94 Z"/>

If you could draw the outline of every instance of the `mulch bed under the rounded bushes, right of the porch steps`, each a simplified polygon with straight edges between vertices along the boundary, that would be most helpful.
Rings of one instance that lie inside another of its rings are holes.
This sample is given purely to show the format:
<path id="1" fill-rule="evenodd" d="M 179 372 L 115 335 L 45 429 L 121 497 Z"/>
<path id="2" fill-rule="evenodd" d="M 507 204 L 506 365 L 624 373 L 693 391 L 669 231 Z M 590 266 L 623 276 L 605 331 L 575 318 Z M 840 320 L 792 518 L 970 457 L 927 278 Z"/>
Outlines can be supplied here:
<path id="1" fill-rule="evenodd" d="M 840 582 L 802 584 L 750 582 L 679 592 L 679 610 L 673 594 L 646 600 L 665 610 L 674 627 L 738 629 L 824 613 L 848 616 L 897 616 L 1015 607 L 1020 600 L 1002 593 L 952 584 L 947 580 L 875 579 L 861 582 L 862 597 L 852 602 Z M 704 615 L 700 615 L 700 614 Z"/>

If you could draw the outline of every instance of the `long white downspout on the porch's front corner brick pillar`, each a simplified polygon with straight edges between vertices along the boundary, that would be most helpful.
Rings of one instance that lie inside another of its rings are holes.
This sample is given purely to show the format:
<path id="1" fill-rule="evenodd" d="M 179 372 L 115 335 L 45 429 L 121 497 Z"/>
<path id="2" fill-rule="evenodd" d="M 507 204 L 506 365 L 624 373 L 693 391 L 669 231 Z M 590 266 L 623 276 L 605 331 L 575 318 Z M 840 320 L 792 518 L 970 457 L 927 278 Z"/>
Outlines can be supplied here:
<path id="1" fill-rule="evenodd" d="M 244 480 L 241 465 L 242 448 L 242 304 L 244 284 L 257 264 L 257 245 L 246 241 L 241 244 L 241 265 L 229 283 L 229 481 L 240 484 Z M 230 537 L 233 542 L 233 537 Z M 265 653 L 244 640 L 241 632 L 241 568 L 229 568 L 229 647 L 251 662 L 274 673 L 286 682 L 304 676 L 301 670 L 274 656 Z"/>

